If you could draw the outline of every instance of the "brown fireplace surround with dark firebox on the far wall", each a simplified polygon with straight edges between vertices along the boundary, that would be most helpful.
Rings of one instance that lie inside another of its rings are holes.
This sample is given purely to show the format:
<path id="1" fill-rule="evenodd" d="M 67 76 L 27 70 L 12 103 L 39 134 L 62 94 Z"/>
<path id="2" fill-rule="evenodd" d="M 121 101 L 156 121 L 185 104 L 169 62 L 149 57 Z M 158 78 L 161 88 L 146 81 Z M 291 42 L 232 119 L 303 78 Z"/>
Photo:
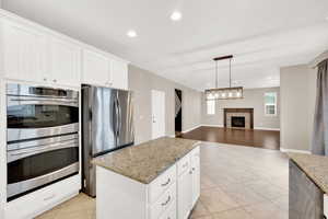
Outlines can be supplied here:
<path id="1" fill-rule="evenodd" d="M 254 108 L 224 108 L 224 127 L 254 129 Z"/>

